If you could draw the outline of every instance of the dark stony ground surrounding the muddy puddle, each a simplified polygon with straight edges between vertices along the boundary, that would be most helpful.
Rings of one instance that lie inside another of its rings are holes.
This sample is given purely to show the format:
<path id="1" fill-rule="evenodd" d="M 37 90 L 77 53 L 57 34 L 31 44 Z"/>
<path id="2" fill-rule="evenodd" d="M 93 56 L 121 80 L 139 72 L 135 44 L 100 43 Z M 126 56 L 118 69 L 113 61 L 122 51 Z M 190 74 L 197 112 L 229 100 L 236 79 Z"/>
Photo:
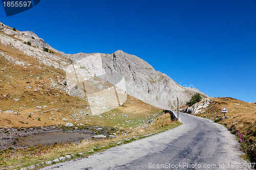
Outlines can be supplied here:
<path id="1" fill-rule="evenodd" d="M 54 132 L 66 132 L 66 133 L 79 133 L 92 135 L 93 138 L 106 138 L 115 137 L 116 129 L 110 127 L 99 127 L 99 126 L 85 126 L 79 125 L 76 127 L 66 126 L 51 126 L 51 127 L 36 127 L 36 128 L 2 128 L 0 129 L 0 150 L 12 148 L 25 148 L 27 145 L 19 145 L 18 140 L 20 137 L 33 136 L 37 134 L 46 134 Z M 92 137 L 91 137 L 92 138 Z M 70 142 L 77 142 L 73 140 Z M 61 141 L 59 141 L 61 142 Z"/>

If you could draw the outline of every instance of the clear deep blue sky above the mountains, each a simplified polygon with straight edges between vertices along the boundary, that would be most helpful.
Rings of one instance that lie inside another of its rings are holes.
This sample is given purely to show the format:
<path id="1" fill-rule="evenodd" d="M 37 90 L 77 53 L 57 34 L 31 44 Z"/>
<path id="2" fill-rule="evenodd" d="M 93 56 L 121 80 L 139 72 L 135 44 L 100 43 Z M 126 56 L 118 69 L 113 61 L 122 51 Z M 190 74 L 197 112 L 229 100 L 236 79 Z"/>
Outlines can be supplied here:
<path id="1" fill-rule="evenodd" d="M 59 51 L 136 55 L 178 84 L 256 102 L 256 0 L 41 0 L 0 21 Z"/>

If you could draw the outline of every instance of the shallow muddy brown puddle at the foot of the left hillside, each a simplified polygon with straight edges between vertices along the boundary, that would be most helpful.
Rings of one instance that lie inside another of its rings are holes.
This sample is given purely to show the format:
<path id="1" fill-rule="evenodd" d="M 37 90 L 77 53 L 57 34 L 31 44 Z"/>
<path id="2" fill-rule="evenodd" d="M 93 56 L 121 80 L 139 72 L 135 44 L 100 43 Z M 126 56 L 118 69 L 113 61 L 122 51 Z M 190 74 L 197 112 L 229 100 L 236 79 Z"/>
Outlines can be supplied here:
<path id="1" fill-rule="evenodd" d="M 67 141 L 75 141 L 82 140 L 86 138 L 91 138 L 93 135 L 89 134 L 80 134 L 80 133 L 65 133 L 65 132 L 54 132 L 54 133 L 45 133 L 38 134 L 33 136 L 20 137 L 18 139 L 17 144 L 19 145 L 38 145 L 39 143 L 42 145 L 52 144 L 54 142 L 67 142 Z"/>

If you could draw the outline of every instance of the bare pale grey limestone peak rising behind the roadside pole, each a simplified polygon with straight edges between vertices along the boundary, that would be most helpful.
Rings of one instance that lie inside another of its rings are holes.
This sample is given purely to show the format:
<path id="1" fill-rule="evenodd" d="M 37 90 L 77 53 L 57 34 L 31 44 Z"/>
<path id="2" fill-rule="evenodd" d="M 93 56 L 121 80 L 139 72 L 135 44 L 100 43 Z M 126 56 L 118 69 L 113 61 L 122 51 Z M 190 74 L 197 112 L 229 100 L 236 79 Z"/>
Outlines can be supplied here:
<path id="1" fill-rule="evenodd" d="M 113 54 L 79 53 L 70 57 L 88 68 L 91 75 L 96 75 L 156 107 L 174 109 L 177 107 L 177 98 L 180 105 L 184 105 L 196 92 L 201 93 L 203 98 L 209 98 L 196 88 L 180 86 L 144 60 L 120 50 Z"/>

